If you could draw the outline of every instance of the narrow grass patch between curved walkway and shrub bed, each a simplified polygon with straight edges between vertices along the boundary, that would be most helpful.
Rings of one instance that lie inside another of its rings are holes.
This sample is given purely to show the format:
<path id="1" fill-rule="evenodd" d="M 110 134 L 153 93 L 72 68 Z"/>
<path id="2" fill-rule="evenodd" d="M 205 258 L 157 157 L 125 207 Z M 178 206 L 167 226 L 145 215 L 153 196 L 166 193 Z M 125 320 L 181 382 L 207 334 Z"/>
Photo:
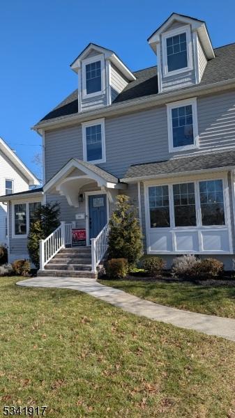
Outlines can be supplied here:
<path id="1" fill-rule="evenodd" d="M 155 280 L 100 280 L 142 299 L 201 314 L 235 318 L 234 286 L 199 286 Z"/>

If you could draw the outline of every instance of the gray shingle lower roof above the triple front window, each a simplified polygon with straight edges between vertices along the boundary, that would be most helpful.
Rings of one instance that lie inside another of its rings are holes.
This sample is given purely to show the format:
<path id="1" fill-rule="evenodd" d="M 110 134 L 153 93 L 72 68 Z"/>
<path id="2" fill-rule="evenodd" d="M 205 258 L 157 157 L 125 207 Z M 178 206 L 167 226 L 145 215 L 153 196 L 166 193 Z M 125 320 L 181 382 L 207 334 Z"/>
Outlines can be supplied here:
<path id="1" fill-rule="evenodd" d="M 235 167 L 235 150 L 221 151 L 193 157 L 172 158 L 172 160 L 135 164 L 128 168 L 122 181 L 131 178 L 157 177 L 190 171 Z"/>

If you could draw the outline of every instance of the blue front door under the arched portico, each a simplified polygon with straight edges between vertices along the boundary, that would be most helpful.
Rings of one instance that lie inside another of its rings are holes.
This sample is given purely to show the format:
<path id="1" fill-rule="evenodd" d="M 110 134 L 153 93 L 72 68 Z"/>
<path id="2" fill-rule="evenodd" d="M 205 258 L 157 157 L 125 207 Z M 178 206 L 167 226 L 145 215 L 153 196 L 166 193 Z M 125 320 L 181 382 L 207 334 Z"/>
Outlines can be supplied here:
<path id="1" fill-rule="evenodd" d="M 89 196 L 89 237 L 96 238 L 107 224 L 106 194 Z"/>

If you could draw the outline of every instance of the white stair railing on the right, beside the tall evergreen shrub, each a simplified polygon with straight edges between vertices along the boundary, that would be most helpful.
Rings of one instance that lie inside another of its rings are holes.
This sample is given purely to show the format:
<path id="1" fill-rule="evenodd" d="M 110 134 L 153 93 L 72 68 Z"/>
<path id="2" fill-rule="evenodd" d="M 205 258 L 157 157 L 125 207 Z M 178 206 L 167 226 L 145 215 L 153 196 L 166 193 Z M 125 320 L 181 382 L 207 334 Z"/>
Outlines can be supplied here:
<path id="1" fill-rule="evenodd" d="M 105 255 L 108 247 L 109 224 L 106 224 L 96 238 L 91 238 L 91 265 L 92 272 L 96 272 L 96 267 Z"/>

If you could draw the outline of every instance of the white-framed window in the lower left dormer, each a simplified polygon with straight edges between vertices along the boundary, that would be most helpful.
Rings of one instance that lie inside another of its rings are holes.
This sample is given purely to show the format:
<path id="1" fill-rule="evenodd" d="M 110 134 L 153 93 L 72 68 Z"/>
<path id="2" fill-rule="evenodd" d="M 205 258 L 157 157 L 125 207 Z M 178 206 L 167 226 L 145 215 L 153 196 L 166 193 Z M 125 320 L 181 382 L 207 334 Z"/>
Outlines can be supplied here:
<path id="1" fill-rule="evenodd" d="M 104 67 L 104 58 L 100 55 L 82 61 L 82 97 L 84 99 L 103 94 Z"/>

